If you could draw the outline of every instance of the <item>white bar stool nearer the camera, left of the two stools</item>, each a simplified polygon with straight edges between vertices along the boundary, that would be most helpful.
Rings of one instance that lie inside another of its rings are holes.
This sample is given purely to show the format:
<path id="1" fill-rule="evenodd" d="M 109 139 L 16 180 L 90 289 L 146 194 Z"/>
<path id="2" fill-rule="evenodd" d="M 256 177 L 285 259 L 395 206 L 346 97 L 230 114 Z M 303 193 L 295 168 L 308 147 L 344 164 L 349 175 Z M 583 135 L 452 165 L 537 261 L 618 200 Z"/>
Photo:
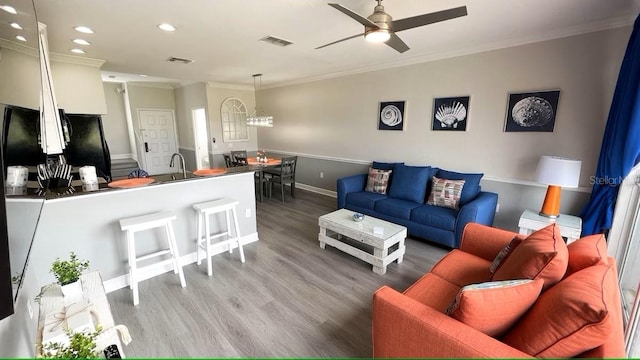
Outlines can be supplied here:
<path id="1" fill-rule="evenodd" d="M 187 286 L 184 281 L 184 273 L 182 272 L 182 265 L 180 264 L 180 255 L 178 254 L 178 247 L 176 246 L 176 236 L 173 232 L 172 221 L 176 219 L 176 216 L 171 211 L 162 211 L 158 213 L 131 217 L 120 220 L 120 229 L 126 231 L 127 246 L 129 249 L 129 287 L 133 290 L 133 305 L 138 305 L 140 302 L 138 294 L 138 283 L 145 279 L 140 279 L 138 271 L 157 266 L 164 266 L 167 262 L 173 263 L 173 272 L 180 277 L 180 285 L 182 287 Z M 169 247 L 160 251 L 153 252 L 151 254 L 137 256 L 136 244 L 134 235 L 136 232 L 150 230 L 154 228 L 164 227 L 167 234 L 167 242 Z M 147 265 L 138 268 L 138 262 L 148 260 L 157 256 L 171 254 L 171 259 L 157 262 L 155 264 Z"/>

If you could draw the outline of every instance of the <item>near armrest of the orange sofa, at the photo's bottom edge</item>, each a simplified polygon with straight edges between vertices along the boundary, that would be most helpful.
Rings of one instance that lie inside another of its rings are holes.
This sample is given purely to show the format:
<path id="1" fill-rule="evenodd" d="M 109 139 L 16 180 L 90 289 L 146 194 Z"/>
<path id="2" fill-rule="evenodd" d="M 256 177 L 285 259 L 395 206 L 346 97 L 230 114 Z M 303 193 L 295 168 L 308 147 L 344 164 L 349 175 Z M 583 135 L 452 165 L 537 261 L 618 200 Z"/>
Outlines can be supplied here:
<path id="1" fill-rule="evenodd" d="M 531 356 L 390 287 L 373 295 L 375 358 L 523 358 Z"/>

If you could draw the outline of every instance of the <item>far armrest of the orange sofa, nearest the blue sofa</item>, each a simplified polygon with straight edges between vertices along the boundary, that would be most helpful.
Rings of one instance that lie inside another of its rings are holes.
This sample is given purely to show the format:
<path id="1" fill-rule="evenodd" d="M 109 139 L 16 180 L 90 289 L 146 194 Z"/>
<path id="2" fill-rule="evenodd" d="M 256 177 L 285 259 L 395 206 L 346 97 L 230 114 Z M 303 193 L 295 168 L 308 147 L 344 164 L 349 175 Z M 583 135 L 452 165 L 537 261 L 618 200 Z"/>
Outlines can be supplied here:
<path id="1" fill-rule="evenodd" d="M 524 235 L 478 223 L 468 223 L 462 232 L 460 250 L 493 261 L 514 237 Z"/>

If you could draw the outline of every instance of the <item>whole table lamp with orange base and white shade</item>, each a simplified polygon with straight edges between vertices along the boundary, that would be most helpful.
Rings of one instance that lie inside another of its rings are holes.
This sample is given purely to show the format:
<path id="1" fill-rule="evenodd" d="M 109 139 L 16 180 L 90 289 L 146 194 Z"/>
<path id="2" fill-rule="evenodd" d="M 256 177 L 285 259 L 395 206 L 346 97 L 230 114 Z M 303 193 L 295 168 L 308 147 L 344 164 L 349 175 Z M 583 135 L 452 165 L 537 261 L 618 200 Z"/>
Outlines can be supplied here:
<path id="1" fill-rule="evenodd" d="M 582 161 L 557 156 L 542 156 L 536 171 L 536 181 L 547 184 L 547 195 L 540 210 L 541 216 L 552 219 L 560 215 L 562 187 L 578 187 Z"/>

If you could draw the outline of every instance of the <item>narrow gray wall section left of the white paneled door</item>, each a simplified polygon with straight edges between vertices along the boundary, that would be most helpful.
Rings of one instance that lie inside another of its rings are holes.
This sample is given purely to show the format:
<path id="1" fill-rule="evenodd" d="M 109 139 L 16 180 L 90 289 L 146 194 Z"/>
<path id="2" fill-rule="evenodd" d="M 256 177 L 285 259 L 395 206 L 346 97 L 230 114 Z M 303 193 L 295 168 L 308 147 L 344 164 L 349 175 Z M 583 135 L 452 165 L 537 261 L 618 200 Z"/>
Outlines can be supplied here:
<path id="1" fill-rule="evenodd" d="M 125 116 L 124 96 L 118 93 L 121 83 L 104 82 L 104 96 L 107 103 L 107 113 L 102 115 L 104 136 L 109 144 L 112 158 L 131 157 L 133 149 L 129 143 L 127 131 L 127 117 Z"/>

